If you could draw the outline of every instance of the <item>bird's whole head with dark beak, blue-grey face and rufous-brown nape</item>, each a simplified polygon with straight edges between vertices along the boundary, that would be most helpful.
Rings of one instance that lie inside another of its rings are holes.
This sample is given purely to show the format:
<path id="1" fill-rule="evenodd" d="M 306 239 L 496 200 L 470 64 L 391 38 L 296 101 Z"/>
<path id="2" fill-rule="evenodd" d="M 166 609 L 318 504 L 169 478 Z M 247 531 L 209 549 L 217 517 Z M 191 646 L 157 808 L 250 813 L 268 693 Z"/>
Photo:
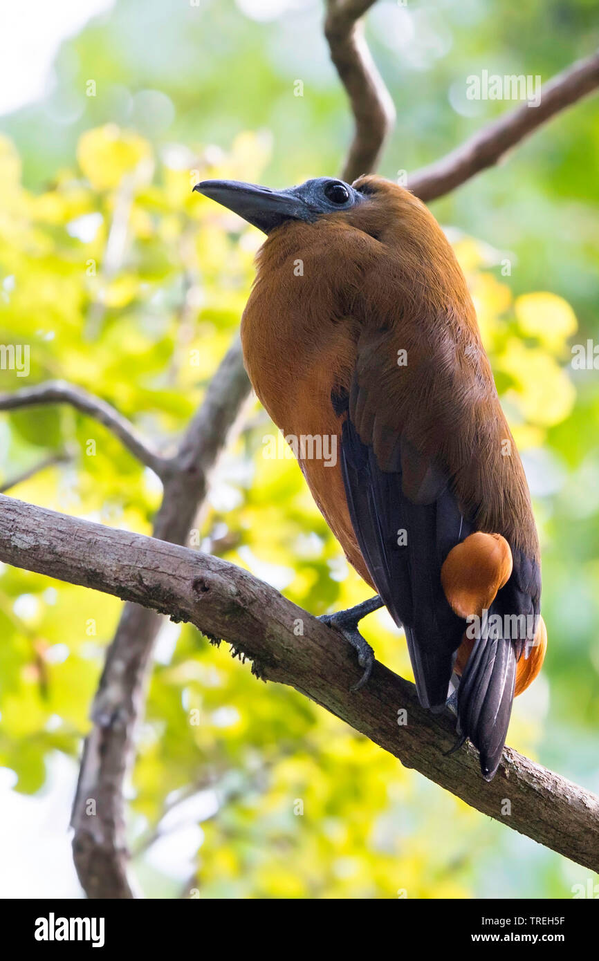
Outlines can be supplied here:
<path id="1" fill-rule="evenodd" d="M 317 177 L 285 190 L 214 180 L 193 189 L 268 234 L 259 270 L 268 264 L 273 277 L 275 262 L 285 271 L 289 256 L 312 258 L 323 283 L 361 289 L 368 268 L 376 265 L 387 277 L 385 284 L 373 281 L 381 307 L 387 291 L 394 308 L 399 285 L 406 302 L 426 299 L 435 310 L 473 313 L 462 270 L 437 220 L 410 190 L 383 177 L 367 175 L 353 184 Z M 314 284 L 315 295 L 320 290 Z"/>

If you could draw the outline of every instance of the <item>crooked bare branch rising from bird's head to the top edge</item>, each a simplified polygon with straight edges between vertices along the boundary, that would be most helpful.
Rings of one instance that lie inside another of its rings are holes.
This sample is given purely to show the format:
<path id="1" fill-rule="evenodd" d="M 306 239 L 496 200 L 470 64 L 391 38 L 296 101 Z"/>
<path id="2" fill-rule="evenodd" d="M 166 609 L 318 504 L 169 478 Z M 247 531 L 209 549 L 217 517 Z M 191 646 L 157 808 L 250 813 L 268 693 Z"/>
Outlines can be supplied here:
<path id="1" fill-rule="evenodd" d="M 375 0 L 327 0 L 324 33 L 356 124 L 341 176 L 352 181 L 378 164 L 395 107 L 363 37 L 360 17 Z"/>

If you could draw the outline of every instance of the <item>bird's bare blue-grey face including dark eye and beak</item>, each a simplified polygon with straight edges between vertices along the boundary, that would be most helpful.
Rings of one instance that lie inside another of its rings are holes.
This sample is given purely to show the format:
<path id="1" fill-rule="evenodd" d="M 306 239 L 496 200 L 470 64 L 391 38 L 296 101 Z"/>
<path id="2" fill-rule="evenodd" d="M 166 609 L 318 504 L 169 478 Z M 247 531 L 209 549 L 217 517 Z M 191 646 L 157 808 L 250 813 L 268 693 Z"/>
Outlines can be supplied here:
<path id="1" fill-rule="evenodd" d="M 313 223 L 326 213 L 350 210 L 366 200 L 365 194 L 333 177 L 316 177 L 286 190 L 238 181 L 202 181 L 193 189 L 234 210 L 264 234 L 286 220 Z"/>

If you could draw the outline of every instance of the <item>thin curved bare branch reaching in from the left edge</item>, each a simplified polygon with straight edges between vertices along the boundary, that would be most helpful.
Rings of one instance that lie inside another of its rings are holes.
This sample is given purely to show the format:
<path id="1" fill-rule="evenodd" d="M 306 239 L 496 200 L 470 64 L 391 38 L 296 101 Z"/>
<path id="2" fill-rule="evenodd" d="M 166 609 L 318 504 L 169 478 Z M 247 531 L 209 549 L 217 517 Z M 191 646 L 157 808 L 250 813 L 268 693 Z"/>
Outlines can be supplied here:
<path id="1" fill-rule="evenodd" d="M 83 387 L 66 381 L 46 381 L 35 387 L 24 387 L 12 393 L 0 394 L 0 410 L 18 410 L 22 407 L 36 407 L 45 404 L 69 404 L 87 414 L 112 431 L 127 450 L 147 467 L 151 467 L 162 477 L 165 460 L 152 451 L 137 432 L 133 424 L 103 401 L 89 394 Z"/>

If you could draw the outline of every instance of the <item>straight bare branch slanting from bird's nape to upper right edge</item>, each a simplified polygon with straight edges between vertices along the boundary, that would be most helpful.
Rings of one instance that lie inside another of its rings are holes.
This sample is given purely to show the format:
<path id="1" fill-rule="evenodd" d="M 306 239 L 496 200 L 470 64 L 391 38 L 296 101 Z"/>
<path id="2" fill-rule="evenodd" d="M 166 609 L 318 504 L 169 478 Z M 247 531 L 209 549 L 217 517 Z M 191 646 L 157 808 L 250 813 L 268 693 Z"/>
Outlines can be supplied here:
<path id="1" fill-rule="evenodd" d="M 543 86 L 538 107 L 525 104 L 505 113 L 451 154 L 412 174 L 408 186 L 423 201 L 443 197 L 450 190 L 471 180 L 481 170 L 503 160 L 512 147 L 598 86 L 599 52 L 595 52 Z"/>

